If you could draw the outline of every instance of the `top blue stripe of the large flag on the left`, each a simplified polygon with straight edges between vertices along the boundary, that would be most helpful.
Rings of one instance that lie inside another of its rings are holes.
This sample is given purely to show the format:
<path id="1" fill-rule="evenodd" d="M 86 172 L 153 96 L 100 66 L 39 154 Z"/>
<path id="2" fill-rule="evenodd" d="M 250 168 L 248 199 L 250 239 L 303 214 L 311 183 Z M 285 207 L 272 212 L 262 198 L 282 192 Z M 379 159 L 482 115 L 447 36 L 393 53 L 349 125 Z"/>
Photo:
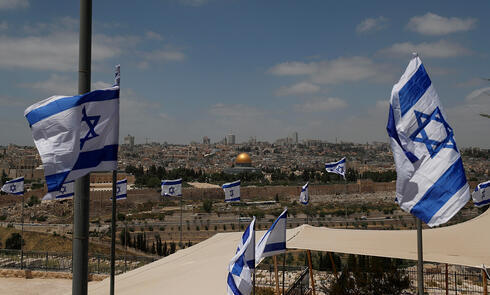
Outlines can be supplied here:
<path id="1" fill-rule="evenodd" d="M 117 98 L 119 98 L 119 89 L 94 90 L 82 95 L 57 99 L 53 102 L 48 103 L 47 105 L 38 107 L 30 111 L 26 115 L 26 118 L 29 122 L 29 125 L 32 126 L 43 119 L 46 119 L 57 113 L 61 113 L 87 102 L 111 100 Z"/>

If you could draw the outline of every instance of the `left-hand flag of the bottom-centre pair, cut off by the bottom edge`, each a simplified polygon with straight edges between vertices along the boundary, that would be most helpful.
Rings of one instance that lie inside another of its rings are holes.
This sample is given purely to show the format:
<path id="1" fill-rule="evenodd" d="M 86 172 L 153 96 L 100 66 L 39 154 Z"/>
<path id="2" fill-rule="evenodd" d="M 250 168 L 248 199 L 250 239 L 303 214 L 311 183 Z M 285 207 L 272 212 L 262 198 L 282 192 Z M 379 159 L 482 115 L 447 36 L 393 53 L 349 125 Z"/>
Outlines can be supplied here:
<path id="1" fill-rule="evenodd" d="M 255 217 L 243 233 L 235 256 L 228 266 L 226 280 L 229 295 L 249 295 L 252 292 L 252 273 L 255 269 Z"/>

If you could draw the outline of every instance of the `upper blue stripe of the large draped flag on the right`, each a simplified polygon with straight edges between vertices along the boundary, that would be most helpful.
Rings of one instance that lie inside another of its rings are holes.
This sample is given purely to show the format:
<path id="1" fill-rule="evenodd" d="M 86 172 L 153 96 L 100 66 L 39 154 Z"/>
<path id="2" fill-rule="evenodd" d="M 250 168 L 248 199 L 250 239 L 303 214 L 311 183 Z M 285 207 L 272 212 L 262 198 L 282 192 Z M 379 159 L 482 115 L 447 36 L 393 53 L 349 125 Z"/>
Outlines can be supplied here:
<path id="1" fill-rule="evenodd" d="M 413 74 L 412 78 L 398 92 L 402 116 L 419 101 L 430 85 L 429 75 L 427 75 L 424 65 L 421 64 L 417 72 Z"/>

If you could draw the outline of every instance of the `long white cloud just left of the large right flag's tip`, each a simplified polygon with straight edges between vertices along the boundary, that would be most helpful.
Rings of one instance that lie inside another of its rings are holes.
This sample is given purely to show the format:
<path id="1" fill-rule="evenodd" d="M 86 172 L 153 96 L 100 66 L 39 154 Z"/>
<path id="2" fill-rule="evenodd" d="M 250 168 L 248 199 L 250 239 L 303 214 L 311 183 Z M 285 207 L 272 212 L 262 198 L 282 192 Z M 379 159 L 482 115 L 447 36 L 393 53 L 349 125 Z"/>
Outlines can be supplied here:
<path id="1" fill-rule="evenodd" d="M 340 57 L 334 60 L 309 63 L 285 62 L 273 66 L 268 72 L 278 76 L 309 75 L 311 82 L 318 84 L 393 80 L 389 67 L 362 56 Z"/>

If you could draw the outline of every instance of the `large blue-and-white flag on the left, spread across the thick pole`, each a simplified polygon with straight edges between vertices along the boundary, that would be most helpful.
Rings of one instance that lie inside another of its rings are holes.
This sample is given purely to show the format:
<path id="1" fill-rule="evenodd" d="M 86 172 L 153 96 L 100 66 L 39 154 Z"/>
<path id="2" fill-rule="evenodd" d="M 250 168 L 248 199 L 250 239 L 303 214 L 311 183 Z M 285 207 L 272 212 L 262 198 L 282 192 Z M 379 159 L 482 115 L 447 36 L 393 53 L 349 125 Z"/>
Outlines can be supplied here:
<path id="1" fill-rule="evenodd" d="M 92 171 L 117 169 L 119 86 L 52 96 L 24 112 L 49 192 Z"/>

